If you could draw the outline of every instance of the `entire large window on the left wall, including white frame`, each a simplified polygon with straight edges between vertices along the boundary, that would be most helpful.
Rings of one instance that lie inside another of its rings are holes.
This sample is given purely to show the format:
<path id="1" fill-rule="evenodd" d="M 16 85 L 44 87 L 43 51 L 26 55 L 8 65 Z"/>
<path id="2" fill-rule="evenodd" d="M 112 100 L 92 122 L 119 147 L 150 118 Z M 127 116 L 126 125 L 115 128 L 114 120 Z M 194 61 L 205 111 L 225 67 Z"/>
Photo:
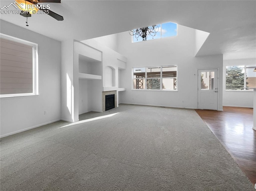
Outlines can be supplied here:
<path id="1" fill-rule="evenodd" d="M 38 45 L 0 34 L 0 96 L 38 94 Z"/>

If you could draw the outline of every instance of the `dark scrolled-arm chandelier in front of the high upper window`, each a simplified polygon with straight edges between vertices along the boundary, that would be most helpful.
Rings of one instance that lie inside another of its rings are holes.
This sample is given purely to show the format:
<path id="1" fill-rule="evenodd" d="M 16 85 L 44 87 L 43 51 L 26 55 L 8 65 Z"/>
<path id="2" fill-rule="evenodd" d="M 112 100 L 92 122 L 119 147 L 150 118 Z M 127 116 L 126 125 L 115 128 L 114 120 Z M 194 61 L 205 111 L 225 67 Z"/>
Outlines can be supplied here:
<path id="1" fill-rule="evenodd" d="M 159 27 L 157 25 L 152 25 L 149 27 L 130 30 L 129 34 L 132 36 L 135 36 L 137 40 L 138 40 L 138 37 L 142 37 L 142 41 L 145 41 L 147 40 L 148 35 L 151 35 L 152 38 L 154 38 L 158 30 L 159 30 Z"/>

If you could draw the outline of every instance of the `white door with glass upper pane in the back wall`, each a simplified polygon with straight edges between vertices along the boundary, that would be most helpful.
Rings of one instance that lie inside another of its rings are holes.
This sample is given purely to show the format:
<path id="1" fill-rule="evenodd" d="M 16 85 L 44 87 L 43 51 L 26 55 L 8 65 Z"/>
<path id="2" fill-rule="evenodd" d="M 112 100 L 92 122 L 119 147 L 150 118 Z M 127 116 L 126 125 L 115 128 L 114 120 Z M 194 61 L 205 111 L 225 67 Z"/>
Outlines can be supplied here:
<path id="1" fill-rule="evenodd" d="M 198 70 L 198 109 L 218 109 L 218 70 Z"/>

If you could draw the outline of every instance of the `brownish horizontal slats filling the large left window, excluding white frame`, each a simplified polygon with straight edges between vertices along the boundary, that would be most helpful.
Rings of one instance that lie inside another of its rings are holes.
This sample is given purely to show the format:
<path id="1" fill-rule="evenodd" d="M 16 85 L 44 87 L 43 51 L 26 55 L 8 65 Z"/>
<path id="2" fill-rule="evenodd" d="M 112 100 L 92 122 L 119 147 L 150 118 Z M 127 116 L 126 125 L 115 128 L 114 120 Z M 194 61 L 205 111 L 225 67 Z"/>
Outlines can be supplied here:
<path id="1" fill-rule="evenodd" d="M 0 94 L 33 93 L 33 45 L 0 38 Z"/>

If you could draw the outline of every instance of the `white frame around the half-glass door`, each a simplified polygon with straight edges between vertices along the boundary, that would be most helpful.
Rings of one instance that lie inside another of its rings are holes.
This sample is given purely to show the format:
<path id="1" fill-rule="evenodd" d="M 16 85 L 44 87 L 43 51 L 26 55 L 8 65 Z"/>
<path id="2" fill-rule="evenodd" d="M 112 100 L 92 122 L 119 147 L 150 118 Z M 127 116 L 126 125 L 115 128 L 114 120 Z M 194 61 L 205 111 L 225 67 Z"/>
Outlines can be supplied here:
<path id="1" fill-rule="evenodd" d="M 198 78 L 199 78 L 199 75 L 198 75 L 198 71 L 199 70 L 210 70 L 210 69 L 216 69 L 217 70 L 217 86 L 218 86 L 218 92 L 217 92 L 217 111 L 222 111 L 222 107 L 219 106 L 219 103 L 220 103 L 220 91 L 222 91 L 222 86 L 220 85 L 220 67 L 210 67 L 210 68 L 197 68 L 196 69 L 196 91 L 197 91 L 197 109 L 198 109 L 198 90 L 199 90 L 199 87 L 198 87 Z M 201 87 L 200 87 L 201 88 Z"/>

